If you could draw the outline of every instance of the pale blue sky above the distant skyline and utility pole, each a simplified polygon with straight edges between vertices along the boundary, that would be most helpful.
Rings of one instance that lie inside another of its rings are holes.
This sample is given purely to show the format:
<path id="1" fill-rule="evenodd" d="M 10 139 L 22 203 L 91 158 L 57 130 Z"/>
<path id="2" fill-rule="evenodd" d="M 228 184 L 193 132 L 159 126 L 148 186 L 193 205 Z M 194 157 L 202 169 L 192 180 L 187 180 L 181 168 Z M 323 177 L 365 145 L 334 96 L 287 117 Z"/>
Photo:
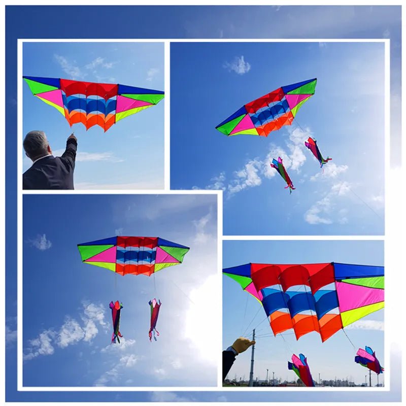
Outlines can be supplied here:
<path id="1" fill-rule="evenodd" d="M 322 263 L 342 262 L 363 265 L 384 264 L 381 241 L 225 241 L 223 243 L 223 267 L 258 263 Z M 258 312 L 258 309 L 259 312 Z M 256 329 L 254 379 L 266 378 L 266 368 L 275 371 L 275 379 L 292 381 L 295 375 L 287 369 L 287 361 L 293 353 L 308 357 L 313 379 L 346 379 L 357 384 L 365 382 L 367 370 L 354 362 L 355 352 L 366 345 L 376 351 L 381 365 L 384 357 L 384 310 L 370 314 L 361 321 L 345 328 L 356 347 L 342 331 L 335 333 L 324 343 L 320 335 L 312 332 L 296 341 L 292 331 L 276 337 L 267 322 L 260 303 L 241 289 L 241 286 L 223 276 L 223 347 L 226 348 L 240 335 L 252 336 Z M 239 355 L 232 366 L 229 378 L 249 378 L 251 351 Z M 272 374 L 271 374 L 272 378 Z M 384 376 L 379 382 L 383 383 Z M 377 383 L 373 374 L 373 385 Z"/>

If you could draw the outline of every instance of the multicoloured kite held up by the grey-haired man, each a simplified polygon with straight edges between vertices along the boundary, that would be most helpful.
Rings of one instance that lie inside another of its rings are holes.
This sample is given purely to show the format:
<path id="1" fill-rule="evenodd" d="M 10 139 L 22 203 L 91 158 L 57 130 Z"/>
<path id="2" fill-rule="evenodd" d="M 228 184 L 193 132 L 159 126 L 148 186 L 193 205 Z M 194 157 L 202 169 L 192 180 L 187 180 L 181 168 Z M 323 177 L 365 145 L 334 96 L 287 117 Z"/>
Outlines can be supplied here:
<path id="1" fill-rule="evenodd" d="M 112 83 L 23 76 L 33 95 L 54 107 L 69 125 L 82 123 L 86 130 L 98 125 L 107 131 L 117 121 L 155 106 L 164 97 L 160 90 Z"/>

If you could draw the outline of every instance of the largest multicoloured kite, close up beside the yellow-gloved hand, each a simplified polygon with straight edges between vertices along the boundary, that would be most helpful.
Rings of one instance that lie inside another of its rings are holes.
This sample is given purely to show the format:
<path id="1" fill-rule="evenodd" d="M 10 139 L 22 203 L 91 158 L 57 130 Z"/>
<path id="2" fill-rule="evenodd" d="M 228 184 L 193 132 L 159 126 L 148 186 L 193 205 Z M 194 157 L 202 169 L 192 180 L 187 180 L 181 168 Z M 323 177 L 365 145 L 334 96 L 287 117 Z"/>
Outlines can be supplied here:
<path id="1" fill-rule="evenodd" d="M 317 331 L 324 342 L 384 307 L 383 266 L 248 263 L 223 273 L 261 302 L 274 335 L 293 329 L 296 340 Z"/>

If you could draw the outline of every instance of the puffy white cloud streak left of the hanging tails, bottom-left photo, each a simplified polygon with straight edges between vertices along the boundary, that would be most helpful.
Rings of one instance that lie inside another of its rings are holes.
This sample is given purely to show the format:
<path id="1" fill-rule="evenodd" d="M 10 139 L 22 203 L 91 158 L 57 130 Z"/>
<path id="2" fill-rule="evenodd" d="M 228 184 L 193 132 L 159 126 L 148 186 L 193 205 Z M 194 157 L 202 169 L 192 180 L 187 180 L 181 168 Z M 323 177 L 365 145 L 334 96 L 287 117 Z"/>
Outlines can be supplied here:
<path id="1" fill-rule="evenodd" d="M 28 341 L 29 345 L 24 350 L 23 360 L 28 361 L 40 355 L 52 355 L 55 347 L 63 349 L 80 341 L 89 343 L 98 333 L 96 323 L 103 328 L 107 327 L 104 306 L 87 302 L 83 302 L 82 306 L 82 323 L 67 316 L 58 329 L 48 328 L 42 331 L 36 339 Z"/>

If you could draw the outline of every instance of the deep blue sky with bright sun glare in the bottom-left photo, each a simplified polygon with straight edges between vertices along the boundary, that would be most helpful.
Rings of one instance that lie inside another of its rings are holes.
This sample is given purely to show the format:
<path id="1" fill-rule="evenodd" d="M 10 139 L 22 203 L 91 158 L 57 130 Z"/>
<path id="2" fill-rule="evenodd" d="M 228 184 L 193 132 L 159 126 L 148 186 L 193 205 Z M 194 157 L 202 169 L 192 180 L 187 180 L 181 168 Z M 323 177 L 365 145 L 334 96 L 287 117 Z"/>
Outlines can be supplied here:
<path id="1" fill-rule="evenodd" d="M 190 251 L 150 278 L 82 263 L 77 244 L 113 235 L 160 236 Z M 207 304 L 218 281 L 216 235 L 215 195 L 24 196 L 23 385 L 215 385 L 216 355 L 201 340 L 220 301 L 218 291 Z M 154 297 L 160 335 L 150 343 Z M 111 300 L 123 303 L 117 345 Z"/>

